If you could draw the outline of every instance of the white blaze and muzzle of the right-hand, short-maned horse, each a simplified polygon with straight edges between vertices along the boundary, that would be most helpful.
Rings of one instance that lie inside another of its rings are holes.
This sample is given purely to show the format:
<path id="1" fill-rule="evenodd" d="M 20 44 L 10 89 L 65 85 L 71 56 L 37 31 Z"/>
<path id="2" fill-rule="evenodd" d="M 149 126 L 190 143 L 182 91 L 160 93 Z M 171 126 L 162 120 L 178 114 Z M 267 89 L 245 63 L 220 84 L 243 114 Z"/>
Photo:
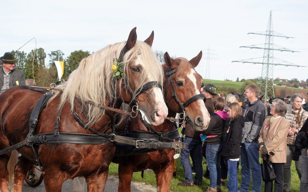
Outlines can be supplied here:
<path id="1" fill-rule="evenodd" d="M 195 93 L 193 93 L 193 95 L 200 94 L 200 87 L 197 86 L 196 76 L 200 76 L 200 75 L 195 71 L 195 69 L 191 69 L 191 72 L 187 75 L 187 77 L 194 84 L 194 92 Z M 196 100 L 196 102 L 198 103 L 198 108 L 195 108 L 195 111 L 200 109 L 202 114 L 201 114 L 201 116 L 196 116 L 196 117 L 193 117 L 193 118 L 190 117 L 190 120 L 194 121 L 194 123 L 197 125 L 197 126 L 194 126 L 197 131 L 203 131 L 203 130 L 207 129 L 207 127 L 209 125 L 210 114 L 209 114 L 207 108 L 205 107 L 204 101 L 202 99 L 198 99 L 198 100 Z M 187 113 L 188 113 L 188 116 L 189 116 L 188 111 L 187 111 Z"/>

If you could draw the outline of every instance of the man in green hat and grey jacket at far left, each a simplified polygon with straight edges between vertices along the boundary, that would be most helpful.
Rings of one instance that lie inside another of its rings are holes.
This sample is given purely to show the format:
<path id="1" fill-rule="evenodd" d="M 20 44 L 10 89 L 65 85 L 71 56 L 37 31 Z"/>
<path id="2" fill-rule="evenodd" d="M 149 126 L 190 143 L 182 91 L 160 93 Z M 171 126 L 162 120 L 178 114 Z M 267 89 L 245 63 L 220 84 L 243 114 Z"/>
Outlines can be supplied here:
<path id="1" fill-rule="evenodd" d="M 18 62 L 14 55 L 10 52 L 4 53 L 3 57 L 0 57 L 0 62 L 3 67 L 0 67 L 0 94 L 6 89 L 15 87 L 19 84 L 26 84 L 24 73 L 15 68 L 15 63 Z"/>

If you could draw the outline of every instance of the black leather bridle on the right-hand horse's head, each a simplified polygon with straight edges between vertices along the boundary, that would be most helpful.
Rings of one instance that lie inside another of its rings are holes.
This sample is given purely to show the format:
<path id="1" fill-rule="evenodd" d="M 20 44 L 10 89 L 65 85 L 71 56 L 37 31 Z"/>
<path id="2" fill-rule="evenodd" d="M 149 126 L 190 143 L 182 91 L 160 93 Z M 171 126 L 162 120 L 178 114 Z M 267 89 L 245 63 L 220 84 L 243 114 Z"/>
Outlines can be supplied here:
<path id="1" fill-rule="evenodd" d="M 167 87 L 168 78 L 169 78 L 170 84 L 171 84 L 171 89 L 172 89 L 172 92 L 173 92 L 172 96 L 174 96 L 176 102 L 180 105 L 180 108 L 183 110 L 183 113 L 180 113 L 180 115 L 183 115 L 183 118 L 181 118 L 180 116 L 179 116 L 179 118 L 183 119 L 183 121 L 184 121 L 185 117 L 187 117 L 187 115 L 185 114 L 186 113 L 186 107 L 189 104 L 193 103 L 195 100 L 198 100 L 199 98 L 202 98 L 202 97 L 205 98 L 205 95 L 204 94 L 197 94 L 195 96 L 192 96 L 187 101 L 185 101 L 184 104 L 182 104 L 182 102 L 179 100 L 179 97 L 176 94 L 176 91 L 175 91 L 175 88 L 174 88 L 174 85 L 173 85 L 173 82 L 172 82 L 172 78 L 171 78 L 171 75 L 173 73 L 177 72 L 177 70 L 178 70 L 178 68 L 173 69 L 173 70 L 171 70 L 171 68 L 167 69 L 167 72 L 165 73 L 165 76 L 166 76 L 165 87 Z M 165 96 L 167 96 L 167 89 L 165 89 Z"/>

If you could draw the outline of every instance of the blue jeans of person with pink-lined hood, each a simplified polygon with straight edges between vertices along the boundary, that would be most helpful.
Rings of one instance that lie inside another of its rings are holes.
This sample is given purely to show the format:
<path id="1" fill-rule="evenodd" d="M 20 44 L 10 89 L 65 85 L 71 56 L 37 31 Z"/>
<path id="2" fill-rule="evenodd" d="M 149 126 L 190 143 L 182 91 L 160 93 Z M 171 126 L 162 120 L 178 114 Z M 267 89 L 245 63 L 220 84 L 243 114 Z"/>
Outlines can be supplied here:
<path id="1" fill-rule="evenodd" d="M 210 172 L 210 187 L 220 185 L 220 156 L 223 144 L 207 145 L 205 148 L 206 164 Z"/>

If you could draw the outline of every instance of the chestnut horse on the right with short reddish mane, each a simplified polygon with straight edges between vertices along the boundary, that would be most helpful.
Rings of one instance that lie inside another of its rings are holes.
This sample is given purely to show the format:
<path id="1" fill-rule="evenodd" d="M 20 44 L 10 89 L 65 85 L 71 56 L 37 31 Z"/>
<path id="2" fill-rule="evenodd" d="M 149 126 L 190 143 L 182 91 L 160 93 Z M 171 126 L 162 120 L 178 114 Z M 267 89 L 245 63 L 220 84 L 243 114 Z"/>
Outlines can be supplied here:
<path id="1" fill-rule="evenodd" d="M 201 57 L 202 51 L 197 55 L 197 57 L 190 61 L 185 58 L 176 58 L 173 60 L 171 57 L 169 57 L 167 52 L 165 53 L 165 64 L 163 64 L 163 69 L 166 74 L 165 79 L 168 78 L 169 80 L 167 84 L 164 85 L 164 89 L 166 91 L 164 96 L 168 107 L 168 116 L 175 117 L 176 113 L 182 112 L 180 104 L 174 97 L 172 84 L 178 99 L 182 104 L 185 104 L 185 102 L 193 96 L 200 94 L 200 88 L 203 79 L 195 71 L 194 67 L 198 65 Z M 170 81 L 170 76 L 172 81 Z M 190 120 L 193 127 L 198 131 L 205 130 L 208 126 L 210 117 L 202 98 L 193 101 L 185 108 L 188 120 Z M 168 120 L 159 126 L 152 126 L 152 128 L 157 132 L 168 132 L 172 130 L 177 131 L 177 128 L 173 125 L 173 123 Z M 138 118 L 131 119 L 128 131 L 125 132 L 130 134 L 130 131 L 134 132 L 135 130 L 148 131 Z M 160 149 L 154 152 L 133 155 L 134 153 L 136 154 L 138 149 L 132 149 L 132 151 L 129 151 L 129 146 L 126 145 L 127 148 L 121 150 L 118 149 L 118 144 L 119 143 L 116 145 L 116 155 L 118 150 L 119 153 L 124 151 L 127 152 L 127 155 L 114 157 L 113 160 L 113 162 L 119 163 L 119 191 L 131 191 L 131 180 L 133 172 L 142 171 L 147 168 L 152 169 L 156 174 L 157 191 L 169 191 L 174 167 L 173 156 L 176 154 L 175 150 Z M 129 154 L 130 152 L 132 152 L 132 154 Z"/>

